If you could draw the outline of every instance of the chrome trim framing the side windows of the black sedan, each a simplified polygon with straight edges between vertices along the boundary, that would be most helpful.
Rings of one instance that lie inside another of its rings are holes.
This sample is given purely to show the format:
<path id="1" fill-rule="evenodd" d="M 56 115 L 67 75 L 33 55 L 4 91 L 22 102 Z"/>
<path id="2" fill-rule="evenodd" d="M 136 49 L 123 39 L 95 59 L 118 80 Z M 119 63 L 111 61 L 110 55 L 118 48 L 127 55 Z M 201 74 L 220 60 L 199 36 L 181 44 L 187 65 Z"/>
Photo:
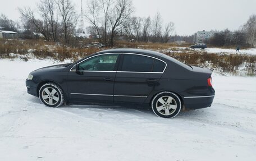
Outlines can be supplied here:
<path id="1" fill-rule="evenodd" d="M 144 56 L 144 57 L 150 57 L 150 58 L 154 58 L 154 59 L 157 59 L 157 60 L 159 60 L 159 61 L 162 61 L 162 62 L 164 62 L 163 60 L 161 60 L 161 59 L 158 59 L 158 58 L 156 58 L 156 57 L 152 57 L 152 56 L 147 56 L 147 55 L 144 55 L 144 54 L 136 54 L 136 53 L 103 53 L 103 54 L 98 54 L 98 55 L 96 55 L 96 56 L 101 56 L 101 55 L 105 55 L 105 54 L 133 54 L 133 55 L 138 55 L 138 56 Z M 93 57 L 96 57 L 96 56 L 92 56 L 92 57 L 89 57 L 89 58 L 93 58 Z M 86 61 L 87 59 L 89 59 L 89 58 L 86 58 L 86 59 L 84 59 L 83 61 L 81 61 L 81 62 L 84 62 L 84 61 Z M 79 63 L 77 63 L 76 65 L 79 65 L 81 62 L 79 62 Z M 162 72 L 135 72 L 135 71 L 74 71 L 74 70 L 72 70 L 72 68 L 70 69 L 70 72 L 118 72 L 118 73 L 164 73 L 164 71 L 166 70 L 166 68 L 167 68 L 167 63 L 166 62 L 164 62 L 165 63 L 165 67 L 164 67 L 164 69 L 163 69 L 163 71 Z"/>

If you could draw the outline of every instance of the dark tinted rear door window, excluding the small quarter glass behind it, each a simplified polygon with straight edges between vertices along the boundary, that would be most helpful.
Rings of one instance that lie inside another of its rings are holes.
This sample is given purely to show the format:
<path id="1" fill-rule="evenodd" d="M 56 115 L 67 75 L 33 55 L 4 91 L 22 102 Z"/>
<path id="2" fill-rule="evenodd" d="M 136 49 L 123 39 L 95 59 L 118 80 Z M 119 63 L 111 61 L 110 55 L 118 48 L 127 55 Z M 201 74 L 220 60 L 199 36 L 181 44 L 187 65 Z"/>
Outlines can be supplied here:
<path id="1" fill-rule="evenodd" d="M 151 72 L 153 68 L 153 58 L 135 55 L 124 54 L 121 71 L 131 72 Z"/>

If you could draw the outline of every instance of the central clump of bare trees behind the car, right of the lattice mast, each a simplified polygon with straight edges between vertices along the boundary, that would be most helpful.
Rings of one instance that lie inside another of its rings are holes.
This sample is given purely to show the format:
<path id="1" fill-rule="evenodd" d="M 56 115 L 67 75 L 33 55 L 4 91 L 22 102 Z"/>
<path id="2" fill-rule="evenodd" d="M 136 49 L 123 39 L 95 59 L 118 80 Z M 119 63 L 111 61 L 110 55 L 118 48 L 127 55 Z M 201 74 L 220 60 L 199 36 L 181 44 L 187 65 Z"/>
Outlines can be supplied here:
<path id="1" fill-rule="evenodd" d="M 167 43 L 174 31 L 174 23 L 163 25 L 160 13 L 151 17 L 131 16 L 134 7 L 131 0 L 90 0 L 85 17 L 91 26 L 90 34 L 99 38 L 99 42 L 113 45 L 115 36 L 123 36 L 132 42 Z"/>

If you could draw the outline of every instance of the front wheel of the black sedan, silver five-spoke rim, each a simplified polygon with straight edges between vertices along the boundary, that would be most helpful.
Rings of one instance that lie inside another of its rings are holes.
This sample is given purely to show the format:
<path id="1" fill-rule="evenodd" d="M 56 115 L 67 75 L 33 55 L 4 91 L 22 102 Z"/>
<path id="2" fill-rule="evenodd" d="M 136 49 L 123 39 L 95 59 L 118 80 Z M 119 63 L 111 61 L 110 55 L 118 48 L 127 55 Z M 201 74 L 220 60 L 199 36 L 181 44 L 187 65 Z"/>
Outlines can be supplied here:
<path id="1" fill-rule="evenodd" d="M 63 90 L 52 82 L 42 85 L 38 95 L 48 107 L 60 107 L 65 102 Z"/>

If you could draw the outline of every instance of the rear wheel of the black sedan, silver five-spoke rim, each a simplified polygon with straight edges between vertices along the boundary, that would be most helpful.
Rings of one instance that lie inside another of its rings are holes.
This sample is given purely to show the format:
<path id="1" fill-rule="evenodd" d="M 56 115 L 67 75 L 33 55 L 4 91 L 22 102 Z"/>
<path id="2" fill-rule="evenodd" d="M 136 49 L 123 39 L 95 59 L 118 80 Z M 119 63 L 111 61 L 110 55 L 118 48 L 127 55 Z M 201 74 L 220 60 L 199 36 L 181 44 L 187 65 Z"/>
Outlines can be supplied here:
<path id="1" fill-rule="evenodd" d="M 154 96 L 151 107 L 157 116 L 173 118 L 180 113 L 181 100 L 176 94 L 169 91 L 163 91 Z"/>

